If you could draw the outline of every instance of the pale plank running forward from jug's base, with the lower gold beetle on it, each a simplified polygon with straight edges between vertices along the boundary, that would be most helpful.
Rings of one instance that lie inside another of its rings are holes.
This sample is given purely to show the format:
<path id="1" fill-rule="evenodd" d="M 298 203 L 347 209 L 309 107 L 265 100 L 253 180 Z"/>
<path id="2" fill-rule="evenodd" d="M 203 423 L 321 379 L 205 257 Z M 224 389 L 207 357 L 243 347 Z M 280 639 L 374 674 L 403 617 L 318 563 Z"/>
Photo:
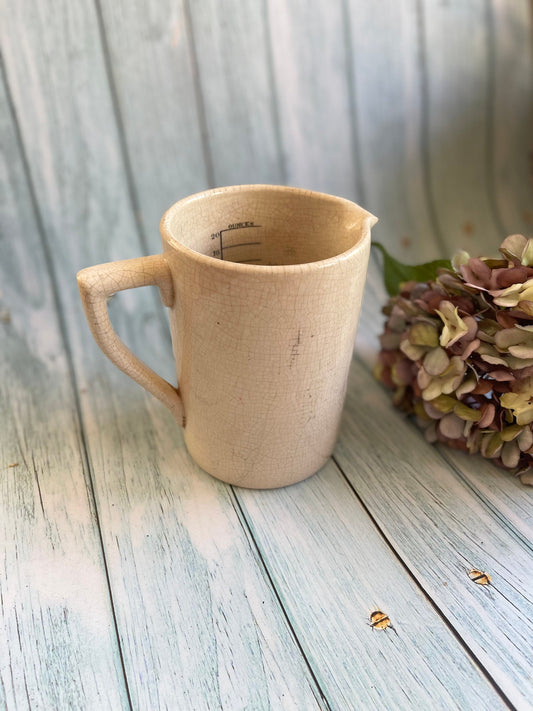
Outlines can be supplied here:
<path id="1" fill-rule="evenodd" d="M 331 708 L 505 708 L 333 462 L 237 495 Z M 376 609 L 395 631 L 372 629 Z"/>

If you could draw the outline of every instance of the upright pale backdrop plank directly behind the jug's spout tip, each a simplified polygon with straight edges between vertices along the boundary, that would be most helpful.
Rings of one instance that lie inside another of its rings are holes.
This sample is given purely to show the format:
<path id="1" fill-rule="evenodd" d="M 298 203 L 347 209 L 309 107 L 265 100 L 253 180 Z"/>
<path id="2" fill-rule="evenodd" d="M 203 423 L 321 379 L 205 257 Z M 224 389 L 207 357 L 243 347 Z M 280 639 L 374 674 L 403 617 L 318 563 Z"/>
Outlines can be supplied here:
<path id="1" fill-rule="evenodd" d="M 424 133 L 424 72 L 417 4 L 348 2 L 353 121 L 364 206 L 375 239 L 407 263 L 444 249 L 432 214 Z"/>

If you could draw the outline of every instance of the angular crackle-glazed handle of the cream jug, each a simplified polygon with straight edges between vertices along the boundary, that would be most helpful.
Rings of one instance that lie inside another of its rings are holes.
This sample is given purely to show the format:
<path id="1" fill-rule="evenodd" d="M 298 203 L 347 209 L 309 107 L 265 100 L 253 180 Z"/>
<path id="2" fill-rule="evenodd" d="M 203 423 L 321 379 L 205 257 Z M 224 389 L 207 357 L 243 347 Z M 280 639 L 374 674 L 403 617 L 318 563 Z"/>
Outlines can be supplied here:
<path id="1" fill-rule="evenodd" d="M 85 316 L 94 340 L 109 360 L 148 390 L 185 427 L 183 401 L 179 390 L 142 362 L 115 333 L 107 309 L 107 299 L 117 291 L 140 286 L 157 286 L 165 306 L 174 303 L 172 275 L 165 257 L 124 259 L 82 269 L 77 275 Z"/>

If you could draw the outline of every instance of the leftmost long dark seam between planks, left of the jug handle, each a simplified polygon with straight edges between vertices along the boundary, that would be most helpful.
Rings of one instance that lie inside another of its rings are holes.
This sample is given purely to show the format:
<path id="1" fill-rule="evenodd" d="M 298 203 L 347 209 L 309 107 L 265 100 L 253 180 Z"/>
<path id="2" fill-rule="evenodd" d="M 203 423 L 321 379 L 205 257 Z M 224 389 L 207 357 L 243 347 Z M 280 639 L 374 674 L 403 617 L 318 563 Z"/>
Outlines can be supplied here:
<path id="1" fill-rule="evenodd" d="M 22 158 L 22 164 L 23 164 L 24 174 L 25 174 L 25 178 L 26 178 L 26 183 L 28 186 L 28 192 L 30 194 L 30 199 L 31 199 L 31 210 L 33 211 L 33 214 L 35 217 L 35 223 L 37 225 L 37 230 L 39 233 L 39 241 L 40 241 L 40 243 L 42 245 L 42 249 L 43 249 L 43 255 L 44 255 L 44 260 L 45 260 L 45 264 L 47 266 L 48 276 L 49 276 L 49 280 L 50 280 L 50 285 L 51 285 L 51 290 L 52 290 L 52 298 L 53 298 L 53 303 L 54 303 L 56 314 L 57 314 L 57 320 L 58 320 L 58 324 L 59 324 L 61 340 L 62 340 L 63 348 L 65 350 L 66 361 L 68 364 L 69 380 L 70 380 L 70 384 L 71 384 L 73 400 L 74 400 L 74 409 L 75 409 L 76 418 L 77 418 L 76 431 L 78 433 L 80 456 L 81 456 L 81 460 L 82 460 L 82 464 L 83 464 L 83 471 L 84 471 L 86 488 L 87 488 L 87 498 L 89 500 L 91 514 L 92 514 L 94 522 L 96 524 L 96 530 L 97 530 L 97 534 L 98 534 L 98 541 L 99 541 L 99 545 L 100 545 L 100 554 L 102 557 L 102 563 L 104 566 L 104 572 L 105 572 L 105 576 L 106 576 L 107 590 L 108 590 L 108 595 L 109 595 L 109 605 L 110 605 L 110 610 L 111 610 L 112 619 L 113 619 L 114 635 L 116 638 L 117 650 L 118 650 L 119 658 L 120 658 L 120 665 L 121 665 L 123 683 L 124 683 L 124 687 L 126 690 L 126 697 L 127 697 L 130 709 L 133 709 L 131 696 L 130 696 L 130 690 L 129 690 L 129 686 L 128 686 L 128 678 L 126 675 L 124 657 L 123 657 L 123 652 L 122 652 L 122 645 L 120 642 L 120 635 L 119 635 L 119 631 L 118 631 L 115 604 L 114 604 L 114 600 L 113 600 L 113 594 L 111 591 L 109 570 L 108 570 L 104 542 L 103 542 L 103 537 L 102 537 L 102 528 L 101 528 L 100 517 L 99 517 L 99 513 L 98 513 L 98 507 L 96 505 L 94 482 L 93 482 L 93 476 L 92 476 L 92 469 L 90 466 L 90 457 L 89 457 L 89 451 L 88 451 L 88 446 L 87 446 L 87 441 L 86 441 L 86 436 L 85 436 L 85 430 L 84 430 L 84 426 L 83 426 L 83 417 L 82 417 L 82 413 L 81 413 L 81 403 L 80 403 L 80 399 L 79 399 L 78 385 L 76 382 L 74 362 L 73 362 L 73 358 L 72 358 L 70 343 L 69 343 L 69 340 L 67 337 L 67 326 L 66 326 L 66 322 L 65 322 L 65 317 L 64 317 L 64 314 L 63 314 L 63 311 L 61 308 L 61 302 L 60 302 L 60 298 L 59 298 L 59 285 L 58 285 L 58 281 L 56 279 L 56 275 L 54 272 L 53 262 L 52 262 L 52 258 L 51 258 L 51 254 L 50 254 L 50 247 L 49 247 L 49 244 L 48 244 L 48 241 L 46 238 L 46 231 L 44 228 L 44 222 L 43 222 L 42 214 L 41 214 L 39 204 L 37 201 L 37 195 L 35 192 L 35 186 L 33 184 L 30 165 L 28 162 L 28 157 L 26 154 L 24 141 L 23 141 L 21 131 L 20 131 L 17 110 L 16 110 L 16 106 L 15 106 L 15 103 L 14 103 L 13 97 L 12 97 L 9 77 L 7 76 L 7 71 L 5 69 L 3 61 L 0 61 L 0 65 L 1 65 L 1 78 L 4 81 L 4 85 L 6 88 L 6 95 L 8 97 L 8 111 L 11 113 L 11 116 L 13 119 L 13 125 L 15 128 L 17 143 L 18 143 L 20 155 Z M 40 488 L 39 488 L 39 492 L 40 492 Z M 42 505 L 42 501 L 41 501 L 41 505 Z M 31 704 L 30 704 L 30 706 L 31 706 Z"/>

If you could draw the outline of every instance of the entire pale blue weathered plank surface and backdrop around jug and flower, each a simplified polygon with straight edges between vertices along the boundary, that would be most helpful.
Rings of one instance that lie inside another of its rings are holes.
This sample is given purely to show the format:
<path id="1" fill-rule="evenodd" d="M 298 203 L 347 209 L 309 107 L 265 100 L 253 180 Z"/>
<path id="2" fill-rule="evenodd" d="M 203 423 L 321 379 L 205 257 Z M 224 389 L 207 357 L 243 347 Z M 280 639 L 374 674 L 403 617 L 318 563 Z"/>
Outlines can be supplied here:
<path id="1" fill-rule="evenodd" d="M 342 473 L 273 492 L 191 462 L 74 280 L 214 184 L 357 199 L 406 260 L 530 231 L 531 27 L 525 0 L 4 2 L 0 707 L 531 708 L 531 490 L 373 382 L 378 260 Z M 172 379 L 156 294 L 111 309 Z"/>

